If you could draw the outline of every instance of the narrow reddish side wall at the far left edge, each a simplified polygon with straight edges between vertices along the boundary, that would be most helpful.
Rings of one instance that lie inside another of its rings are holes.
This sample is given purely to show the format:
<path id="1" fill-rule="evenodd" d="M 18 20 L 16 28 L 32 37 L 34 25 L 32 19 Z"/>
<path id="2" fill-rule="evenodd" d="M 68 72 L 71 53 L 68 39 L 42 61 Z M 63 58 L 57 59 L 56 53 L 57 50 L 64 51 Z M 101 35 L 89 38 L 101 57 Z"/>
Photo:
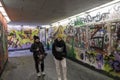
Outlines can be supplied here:
<path id="1" fill-rule="evenodd" d="M 2 72 L 7 59 L 7 23 L 0 13 L 0 73 Z"/>

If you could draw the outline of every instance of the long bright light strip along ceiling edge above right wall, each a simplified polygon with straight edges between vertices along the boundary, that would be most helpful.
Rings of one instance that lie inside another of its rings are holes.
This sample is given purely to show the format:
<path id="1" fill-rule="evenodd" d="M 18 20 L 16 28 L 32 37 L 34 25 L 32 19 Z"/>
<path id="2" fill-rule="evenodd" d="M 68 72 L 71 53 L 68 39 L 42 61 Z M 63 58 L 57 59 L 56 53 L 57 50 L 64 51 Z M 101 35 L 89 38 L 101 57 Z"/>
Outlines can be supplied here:
<path id="1" fill-rule="evenodd" d="M 107 6 L 110 6 L 110 5 L 112 5 L 112 4 L 115 4 L 115 3 L 117 3 L 117 2 L 120 2 L 120 0 L 113 0 L 113 1 L 111 1 L 111 2 L 109 2 L 109 3 L 106 3 L 106 4 L 104 4 L 104 5 L 101 5 L 101 6 L 99 6 L 99 7 L 96 7 L 96 8 L 90 9 L 90 10 L 88 10 L 88 11 L 82 12 L 82 13 L 80 13 L 80 14 L 77 14 L 77 15 L 74 15 L 74 16 L 71 16 L 71 17 L 68 17 L 68 18 L 66 18 L 66 19 L 64 19 L 64 20 L 67 20 L 67 19 L 68 19 L 68 20 L 69 20 L 69 19 L 75 20 L 77 16 L 84 16 L 84 15 L 86 15 L 86 13 L 90 13 L 90 12 L 96 11 L 96 10 L 98 10 L 98 9 L 101 9 L 101 8 L 104 8 L 104 7 L 107 7 Z M 59 22 L 59 23 L 63 23 L 64 20 L 60 20 L 60 21 L 58 21 L 58 22 Z M 58 22 L 52 23 L 52 26 L 54 26 L 54 25 L 58 25 L 58 26 L 59 26 Z"/>

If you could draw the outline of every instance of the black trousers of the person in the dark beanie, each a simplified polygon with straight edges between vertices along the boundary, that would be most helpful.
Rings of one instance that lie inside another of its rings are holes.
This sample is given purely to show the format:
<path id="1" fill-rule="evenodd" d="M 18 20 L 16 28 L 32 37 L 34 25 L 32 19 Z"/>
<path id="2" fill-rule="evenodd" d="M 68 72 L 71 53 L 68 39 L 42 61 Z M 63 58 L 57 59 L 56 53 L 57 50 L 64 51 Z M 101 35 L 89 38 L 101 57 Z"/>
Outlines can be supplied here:
<path id="1" fill-rule="evenodd" d="M 34 61 L 35 61 L 35 69 L 36 69 L 36 72 L 39 73 L 40 70 L 39 70 L 39 65 L 41 65 L 41 72 L 44 71 L 44 60 L 41 61 L 41 64 L 39 62 L 39 58 L 37 55 L 33 55 L 34 57 Z"/>

